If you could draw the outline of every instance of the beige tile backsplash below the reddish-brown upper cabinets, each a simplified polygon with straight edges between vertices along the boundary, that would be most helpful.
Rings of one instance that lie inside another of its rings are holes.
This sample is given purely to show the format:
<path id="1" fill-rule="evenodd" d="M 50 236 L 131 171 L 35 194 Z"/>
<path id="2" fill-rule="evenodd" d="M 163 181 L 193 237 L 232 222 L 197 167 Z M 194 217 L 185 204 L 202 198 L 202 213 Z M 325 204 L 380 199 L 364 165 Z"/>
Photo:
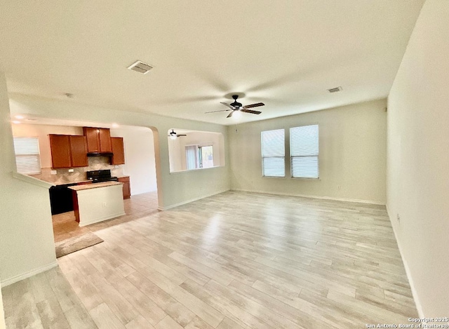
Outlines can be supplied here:
<path id="1" fill-rule="evenodd" d="M 51 174 L 53 168 L 41 168 L 39 175 L 31 175 L 38 180 L 44 180 L 55 184 L 68 184 L 72 182 L 81 182 L 87 180 L 86 171 L 110 169 L 111 175 L 114 177 L 123 176 L 123 166 L 112 166 L 109 164 L 109 157 L 107 156 L 91 156 L 88 157 L 89 166 L 72 168 L 73 173 L 69 173 L 69 168 L 55 169 L 56 175 Z M 118 167 L 118 168 L 116 168 Z"/>

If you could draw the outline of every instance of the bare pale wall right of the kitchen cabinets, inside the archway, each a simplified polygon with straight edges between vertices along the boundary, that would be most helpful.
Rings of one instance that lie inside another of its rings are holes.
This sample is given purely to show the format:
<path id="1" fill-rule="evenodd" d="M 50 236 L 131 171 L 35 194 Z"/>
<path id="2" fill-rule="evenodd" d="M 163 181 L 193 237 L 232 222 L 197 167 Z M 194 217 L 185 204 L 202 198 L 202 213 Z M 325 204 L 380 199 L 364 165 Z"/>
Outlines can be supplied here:
<path id="1" fill-rule="evenodd" d="M 123 137 L 123 174 L 130 176 L 131 195 L 156 191 L 156 159 L 152 130 L 142 127 L 112 128 L 111 136 Z"/>

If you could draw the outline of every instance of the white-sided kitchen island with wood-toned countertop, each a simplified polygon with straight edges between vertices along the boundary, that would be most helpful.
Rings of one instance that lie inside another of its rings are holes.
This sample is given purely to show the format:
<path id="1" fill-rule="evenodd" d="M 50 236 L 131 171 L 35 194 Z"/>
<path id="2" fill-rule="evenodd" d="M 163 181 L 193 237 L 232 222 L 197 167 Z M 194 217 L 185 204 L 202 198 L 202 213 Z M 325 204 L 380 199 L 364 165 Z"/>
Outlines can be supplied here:
<path id="1" fill-rule="evenodd" d="M 86 226 L 125 215 L 123 183 L 102 182 L 71 186 L 76 222 Z"/>

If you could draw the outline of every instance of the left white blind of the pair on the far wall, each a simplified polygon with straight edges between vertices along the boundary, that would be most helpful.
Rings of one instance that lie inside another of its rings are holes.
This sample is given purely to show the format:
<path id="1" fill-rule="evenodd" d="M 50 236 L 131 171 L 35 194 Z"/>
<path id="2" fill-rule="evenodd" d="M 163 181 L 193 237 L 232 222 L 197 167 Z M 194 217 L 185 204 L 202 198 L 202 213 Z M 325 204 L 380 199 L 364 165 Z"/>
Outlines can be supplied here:
<path id="1" fill-rule="evenodd" d="M 262 131 L 262 175 L 266 177 L 285 177 L 286 149 L 283 129 Z"/>

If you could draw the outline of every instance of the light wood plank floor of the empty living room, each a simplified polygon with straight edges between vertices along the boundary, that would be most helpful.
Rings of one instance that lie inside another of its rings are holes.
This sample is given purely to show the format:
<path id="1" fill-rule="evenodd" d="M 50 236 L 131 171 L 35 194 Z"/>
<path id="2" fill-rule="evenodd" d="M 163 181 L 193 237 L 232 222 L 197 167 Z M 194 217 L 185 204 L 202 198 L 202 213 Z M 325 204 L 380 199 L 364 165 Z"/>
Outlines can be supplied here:
<path id="1" fill-rule="evenodd" d="M 383 206 L 225 192 L 7 286 L 7 328 L 366 328 L 417 317 Z"/>

